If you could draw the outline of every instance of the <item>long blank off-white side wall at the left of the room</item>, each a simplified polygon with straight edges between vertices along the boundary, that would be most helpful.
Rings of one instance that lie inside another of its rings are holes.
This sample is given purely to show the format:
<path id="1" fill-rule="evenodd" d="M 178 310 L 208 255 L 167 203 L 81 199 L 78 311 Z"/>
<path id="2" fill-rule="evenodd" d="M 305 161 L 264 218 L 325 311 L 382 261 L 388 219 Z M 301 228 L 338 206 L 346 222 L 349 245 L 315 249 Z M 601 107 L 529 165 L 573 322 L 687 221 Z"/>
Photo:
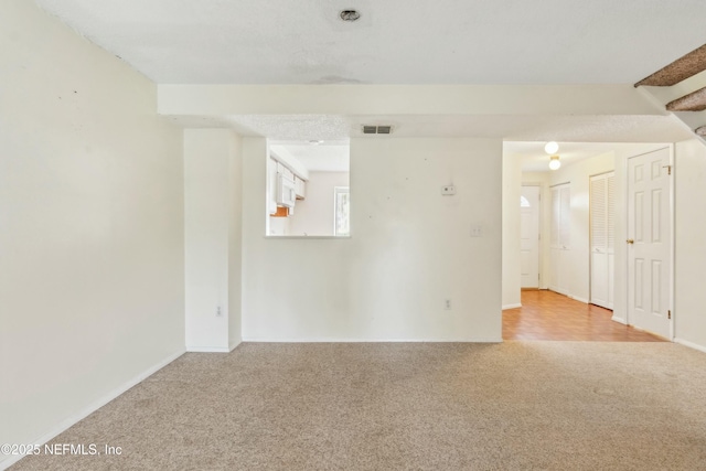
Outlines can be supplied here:
<path id="1" fill-rule="evenodd" d="M 0 57 L 0 443 L 38 443 L 184 351 L 182 140 L 34 2 Z"/>

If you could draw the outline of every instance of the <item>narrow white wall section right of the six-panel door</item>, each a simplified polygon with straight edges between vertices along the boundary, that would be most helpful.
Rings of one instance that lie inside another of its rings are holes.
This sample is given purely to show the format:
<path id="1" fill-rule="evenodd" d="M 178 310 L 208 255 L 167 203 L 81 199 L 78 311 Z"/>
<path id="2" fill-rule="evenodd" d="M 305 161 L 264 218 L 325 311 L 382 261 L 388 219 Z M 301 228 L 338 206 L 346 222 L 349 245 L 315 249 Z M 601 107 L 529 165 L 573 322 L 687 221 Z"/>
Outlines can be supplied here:
<path id="1" fill-rule="evenodd" d="M 675 147 L 675 306 L 677 342 L 706 350 L 706 146 L 697 139 Z"/>

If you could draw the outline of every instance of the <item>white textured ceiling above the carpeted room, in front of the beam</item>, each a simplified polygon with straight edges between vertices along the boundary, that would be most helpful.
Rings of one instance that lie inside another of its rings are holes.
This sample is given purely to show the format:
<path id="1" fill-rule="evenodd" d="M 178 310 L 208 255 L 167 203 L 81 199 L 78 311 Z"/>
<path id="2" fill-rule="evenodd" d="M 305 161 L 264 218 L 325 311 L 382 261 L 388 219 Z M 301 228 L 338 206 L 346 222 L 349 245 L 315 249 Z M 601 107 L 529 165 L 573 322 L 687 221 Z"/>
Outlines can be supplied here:
<path id="1" fill-rule="evenodd" d="M 700 46 L 706 18 L 703 0 L 38 3 L 179 84 L 632 84 Z"/>

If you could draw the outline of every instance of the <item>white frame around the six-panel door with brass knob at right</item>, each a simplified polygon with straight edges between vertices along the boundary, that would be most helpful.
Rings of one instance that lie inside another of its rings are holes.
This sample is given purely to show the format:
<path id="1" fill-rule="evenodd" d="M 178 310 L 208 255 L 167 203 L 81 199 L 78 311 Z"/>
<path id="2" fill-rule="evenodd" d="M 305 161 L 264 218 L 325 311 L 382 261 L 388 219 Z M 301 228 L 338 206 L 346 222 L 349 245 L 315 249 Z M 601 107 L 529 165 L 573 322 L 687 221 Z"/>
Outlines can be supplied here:
<path id="1" fill-rule="evenodd" d="M 670 152 L 670 163 L 668 165 L 671 167 L 671 172 L 672 172 L 672 180 L 670 181 L 670 191 L 668 191 L 668 196 L 670 196 L 670 203 L 668 203 L 668 208 L 670 208 L 670 215 L 668 215 L 668 221 L 670 221 L 670 257 L 672 258 L 670 260 L 670 280 L 668 280 L 668 292 L 670 292 L 670 299 L 667 301 L 667 306 L 668 309 L 672 311 L 672 318 L 670 319 L 670 334 L 667 340 L 670 342 L 674 342 L 674 321 L 676 318 L 676 313 L 674 311 L 674 287 L 675 287 L 675 279 L 674 279 L 674 265 L 675 265 L 675 238 L 674 238 L 674 195 L 675 195 L 675 182 L 676 182 L 676 169 L 674 165 L 674 144 L 673 143 L 668 143 L 665 144 L 664 147 L 660 147 L 656 149 L 652 149 L 648 152 L 641 152 L 641 153 L 637 153 L 634 156 L 630 156 L 627 157 L 623 162 L 622 162 L 622 168 L 623 168 L 623 175 L 624 175 L 624 226 L 625 226 L 625 232 L 624 235 L 628 235 L 628 225 L 629 225 L 629 211 L 630 211 L 630 196 L 629 196 L 629 185 L 628 185 L 628 181 L 630 179 L 630 175 L 628 174 L 628 168 L 629 168 L 629 160 L 633 157 L 640 157 L 640 156 L 644 156 L 648 153 L 652 153 L 655 152 L 657 150 L 662 150 L 662 149 L 667 149 Z M 616 244 L 627 244 L 625 240 L 616 240 Z M 629 297 L 629 282 L 630 280 L 628 279 L 628 274 L 629 274 L 629 264 L 630 264 L 630 250 L 624 250 L 624 260 L 623 260 L 623 268 L 625 270 L 625 299 L 624 299 L 624 312 L 625 312 L 625 323 L 628 325 L 633 325 L 633 319 L 631 319 L 631 313 L 630 313 L 630 300 L 628 299 Z M 617 266 L 618 264 L 616 264 Z"/>

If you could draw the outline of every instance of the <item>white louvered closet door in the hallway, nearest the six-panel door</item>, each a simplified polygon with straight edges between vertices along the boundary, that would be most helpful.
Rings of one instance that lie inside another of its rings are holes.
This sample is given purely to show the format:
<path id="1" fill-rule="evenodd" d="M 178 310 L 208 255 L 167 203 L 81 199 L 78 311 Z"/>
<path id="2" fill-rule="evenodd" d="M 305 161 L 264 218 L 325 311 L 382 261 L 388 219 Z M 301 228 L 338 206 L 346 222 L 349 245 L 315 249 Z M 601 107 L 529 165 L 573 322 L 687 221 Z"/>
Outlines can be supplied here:
<path id="1" fill-rule="evenodd" d="M 613 266 L 616 245 L 616 178 L 603 173 L 590 179 L 590 302 L 613 308 Z"/>

